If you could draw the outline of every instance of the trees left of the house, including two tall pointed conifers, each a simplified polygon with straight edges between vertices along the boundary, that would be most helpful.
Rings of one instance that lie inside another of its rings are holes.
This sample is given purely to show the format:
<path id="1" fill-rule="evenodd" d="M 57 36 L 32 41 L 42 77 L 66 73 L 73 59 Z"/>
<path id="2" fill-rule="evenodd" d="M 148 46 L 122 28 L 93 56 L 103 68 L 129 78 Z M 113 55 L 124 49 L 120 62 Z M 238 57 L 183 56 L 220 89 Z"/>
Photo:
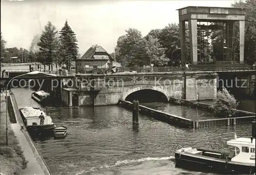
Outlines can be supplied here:
<path id="1" fill-rule="evenodd" d="M 24 48 L 5 48 L 6 41 L 1 33 L 1 62 L 22 63 L 40 62 L 46 65 L 66 65 L 69 70 L 71 63 L 78 57 L 76 35 L 66 20 L 61 31 L 57 31 L 51 21 L 45 26 L 40 37 L 35 36 L 30 51 Z M 39 49 L 38 49 L 38 48 Z M 50 66 L 49 66 L 50 67 Z"/>

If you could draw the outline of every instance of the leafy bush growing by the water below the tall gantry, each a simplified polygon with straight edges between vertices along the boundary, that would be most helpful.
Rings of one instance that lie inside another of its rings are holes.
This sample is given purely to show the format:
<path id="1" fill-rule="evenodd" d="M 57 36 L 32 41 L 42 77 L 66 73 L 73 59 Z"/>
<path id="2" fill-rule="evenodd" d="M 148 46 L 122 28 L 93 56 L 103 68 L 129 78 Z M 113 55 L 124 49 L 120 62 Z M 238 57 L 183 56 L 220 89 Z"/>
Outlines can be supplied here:
<path id="1" fill-rule="evenodd" d="M 238 105 L 237 99 L 226 88 L 217 92 L 217 98 L 214 100 L 214 109 L 217 116 L 233 117 L 236 115 Z"/>

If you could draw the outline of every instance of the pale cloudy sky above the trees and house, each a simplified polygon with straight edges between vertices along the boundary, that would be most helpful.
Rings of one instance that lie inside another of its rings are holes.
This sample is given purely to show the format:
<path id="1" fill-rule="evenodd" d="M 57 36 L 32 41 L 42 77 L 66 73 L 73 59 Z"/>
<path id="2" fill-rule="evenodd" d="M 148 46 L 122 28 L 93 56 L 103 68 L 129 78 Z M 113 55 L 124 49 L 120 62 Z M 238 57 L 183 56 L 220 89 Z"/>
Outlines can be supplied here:
<path id="1" fill-rule="evenodd" d="M 66 19 L 76 33 L 79 53 L 92 45 L 114 52 L 119 36 L 136 28 L 142 35 L 178 23 L 186 6 L 230 7 L 234 1 L 12 1 L 1 2 L 1 32 L 6 47 L 29 49 L 35 35 L 51 21 L 58 31 Z"/>

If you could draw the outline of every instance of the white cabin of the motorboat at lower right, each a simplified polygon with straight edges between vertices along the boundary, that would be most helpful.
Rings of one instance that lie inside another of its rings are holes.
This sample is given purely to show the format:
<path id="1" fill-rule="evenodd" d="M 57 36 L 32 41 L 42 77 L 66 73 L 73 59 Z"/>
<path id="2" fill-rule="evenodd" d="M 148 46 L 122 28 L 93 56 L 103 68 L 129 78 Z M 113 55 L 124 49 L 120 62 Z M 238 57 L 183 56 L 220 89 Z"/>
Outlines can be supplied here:
<path id="1" fill-rule="evenodd" d="M 255 163 L 255 138 L 237 138 L 227 141 L 230 146 L 236 147 L 236 152 L 230 152 L 231 161 Z"/>

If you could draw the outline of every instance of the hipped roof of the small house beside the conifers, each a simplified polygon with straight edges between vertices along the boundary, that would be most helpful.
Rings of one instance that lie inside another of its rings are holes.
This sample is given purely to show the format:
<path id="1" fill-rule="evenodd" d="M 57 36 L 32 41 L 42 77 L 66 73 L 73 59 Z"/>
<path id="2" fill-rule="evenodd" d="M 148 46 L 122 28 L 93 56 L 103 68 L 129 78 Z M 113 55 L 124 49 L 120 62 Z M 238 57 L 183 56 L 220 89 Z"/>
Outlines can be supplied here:
<path id="1" fill-rule="evenodd" d="M 93 57 L 96 56 L 96 57 Z M 111 55 L 105 51 L 105 49 L 103 47 L 101 47 L 100 45 L 94 45 L 92 47 L 90 47 L 86 53 L 83 54 L 83 56 L 80 58 L 81 60 L 91 60 L 91 59 L 103 59 L 101 56 L 105 56 L 104 60 L 112 60 L 114 61 L 114 59 L 111 57 Z M 77 59 L 79 60 L 79 59 Z"/>

